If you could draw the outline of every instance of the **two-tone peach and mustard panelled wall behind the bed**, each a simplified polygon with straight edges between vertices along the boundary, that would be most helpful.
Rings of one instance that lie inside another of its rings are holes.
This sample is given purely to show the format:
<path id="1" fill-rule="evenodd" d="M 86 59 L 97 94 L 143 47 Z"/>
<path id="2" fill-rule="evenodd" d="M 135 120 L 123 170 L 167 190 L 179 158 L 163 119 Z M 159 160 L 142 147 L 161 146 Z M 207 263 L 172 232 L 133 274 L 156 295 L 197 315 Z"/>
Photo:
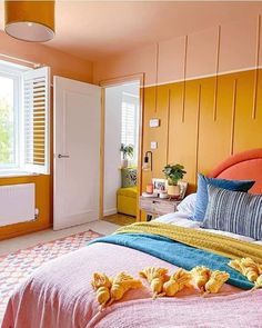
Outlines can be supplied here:
<path id="1" fill-rule="evenodd" d="M 254 16 L 94 63 L 97 83 L 144 73 L 143 152 L 150 141 L 159 148 L 143 185 L 162 177 L 167 162 L 180 162 L 192 191 L 198 171 L 262 147 L 261 44 L 261 18 Z M 160 127 L 149 128 L 150 118 L 160 118 Z"/>

